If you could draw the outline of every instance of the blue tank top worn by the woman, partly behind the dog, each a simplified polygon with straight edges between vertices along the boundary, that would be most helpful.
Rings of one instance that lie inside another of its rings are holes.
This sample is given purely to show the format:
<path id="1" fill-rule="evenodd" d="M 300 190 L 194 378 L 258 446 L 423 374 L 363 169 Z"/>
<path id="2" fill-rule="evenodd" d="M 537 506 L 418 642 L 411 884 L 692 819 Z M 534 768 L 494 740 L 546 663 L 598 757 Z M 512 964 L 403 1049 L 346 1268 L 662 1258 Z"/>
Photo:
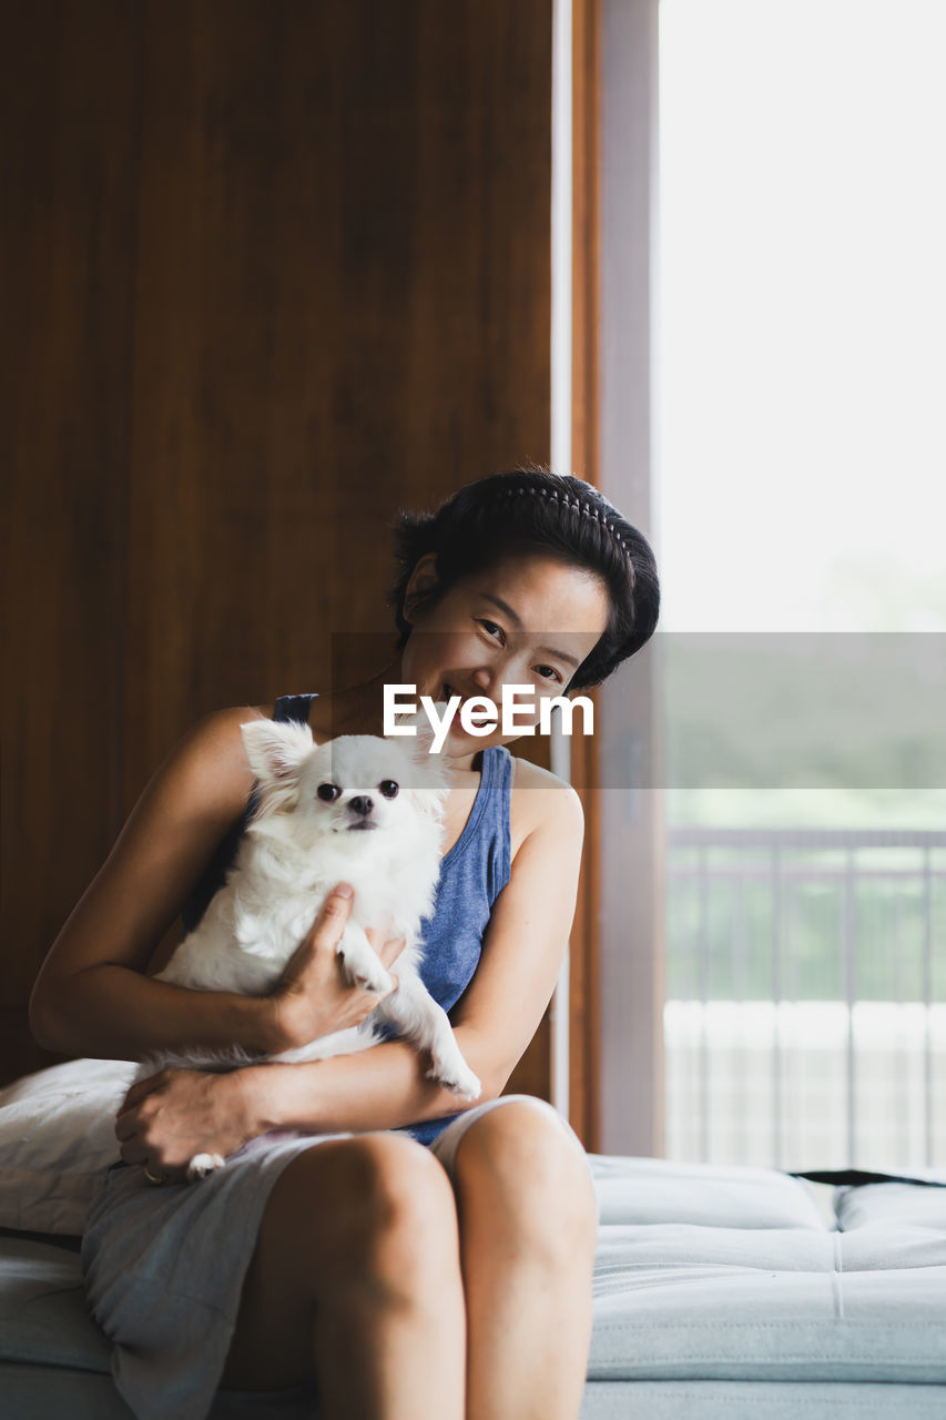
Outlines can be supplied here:
<path id="1" fill-rule="evenodd" d="M 314 696 L 281 696 L 274 720 L 308 723 Z M 480 787 L 463 832 L 440 862 L 433 916 L 422 926 L 423 961 L 420 978 L 433 1000 L 450 1011 L 473 978 L 483 947 L 483 933 L 497 896 L 511 869 L 509 809 L 513 761 L 504 746 L 480 754 Z M 193 932 L 207 903 L 223 886 L 233 865 L 246 825 L 256 808 L 250 794 L 241 818 L 222 841 L 200 882 L 182 909 L 186 932 Z M 420 1143 L 432 1143 L 456 1115 L 408 1125 L 401 1132 Z"/>

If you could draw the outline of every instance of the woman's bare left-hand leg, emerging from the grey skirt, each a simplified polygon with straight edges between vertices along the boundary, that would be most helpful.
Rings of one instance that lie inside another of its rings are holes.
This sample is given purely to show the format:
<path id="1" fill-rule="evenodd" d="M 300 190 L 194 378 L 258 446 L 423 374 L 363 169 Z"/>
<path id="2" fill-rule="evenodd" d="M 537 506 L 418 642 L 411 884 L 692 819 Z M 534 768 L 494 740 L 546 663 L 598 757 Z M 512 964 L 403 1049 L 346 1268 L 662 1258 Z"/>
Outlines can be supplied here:
<path id="1" fill-rule="evenodd" d="M 318 1377 L 324 1420 L 462 1420 L 456 1203 L 396 1135 L 327 1140 L 270 1194 L 222 1384 Z"/>

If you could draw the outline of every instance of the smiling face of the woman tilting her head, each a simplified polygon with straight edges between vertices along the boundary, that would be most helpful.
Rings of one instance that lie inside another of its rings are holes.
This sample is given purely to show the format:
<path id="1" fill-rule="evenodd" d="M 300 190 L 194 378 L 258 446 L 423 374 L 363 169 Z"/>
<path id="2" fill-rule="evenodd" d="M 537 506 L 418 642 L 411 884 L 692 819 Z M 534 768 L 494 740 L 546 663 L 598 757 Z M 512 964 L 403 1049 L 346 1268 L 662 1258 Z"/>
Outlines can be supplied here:
<path id="1" fill-rule="evenodd" d="M 433 555 L 418 562 L 408 584 L 405 615 L 412 622 L 401 660 L 401 679 L 418 696 L 449 700 L 489 696 L 501 707 L 503 686 L 531 686 L 533 714 L 518 696 L 517 723 L 538 723 L 543 699 L 561 696 L 581 662 L 594 650 L 608 623 L 604 582 L 582 568 L 544 552 L 510 557 L 457 582 L 429 608 L 412 615 L 412 594 L 436 585 Z M 473 755 L 518 738 L 463 730 L 459 709 L 445 753 Z"/>

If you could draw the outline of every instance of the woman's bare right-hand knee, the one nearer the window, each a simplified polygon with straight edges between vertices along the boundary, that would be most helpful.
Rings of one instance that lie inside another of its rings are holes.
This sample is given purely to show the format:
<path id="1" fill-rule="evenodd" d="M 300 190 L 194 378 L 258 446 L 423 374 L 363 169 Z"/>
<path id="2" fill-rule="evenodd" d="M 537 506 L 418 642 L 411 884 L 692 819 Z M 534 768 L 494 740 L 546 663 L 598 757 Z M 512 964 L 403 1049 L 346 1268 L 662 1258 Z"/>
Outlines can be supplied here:
<path id="1" fill-rule="evenodd" d="M 584 1149 L 551 1105 L 510 1096 L 460 1140 L 455 1172 L 464 1207 L 482 1201 L 520 1248 L 594 1251 L 598 1204 Z"/>

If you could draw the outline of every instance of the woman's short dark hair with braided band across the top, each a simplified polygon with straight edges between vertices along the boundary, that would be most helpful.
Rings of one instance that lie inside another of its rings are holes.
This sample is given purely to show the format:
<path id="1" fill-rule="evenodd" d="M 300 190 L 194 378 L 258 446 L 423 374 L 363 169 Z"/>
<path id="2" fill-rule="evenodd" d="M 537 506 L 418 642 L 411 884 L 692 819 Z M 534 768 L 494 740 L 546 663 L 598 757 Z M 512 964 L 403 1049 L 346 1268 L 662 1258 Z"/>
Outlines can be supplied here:
<path id="1" fill-rule="evenodd" d="M 460 488 L 436 513 L 401 513 L 393 524 L 401 575 L 391 591 L 401 640 L 411 635 L 403 613 L 415 567 L 436 555 L 437 584 L 418 605 L 428 608 L 456 582 L 521 551 L 551 552 L 597 574 L 608 588 L 608 626 L 570 682 L 597 686 L 653 635 L 660 604 L 656 562 L 648 540 L 589 483 L 544 469 L 497 473 Z"/>

